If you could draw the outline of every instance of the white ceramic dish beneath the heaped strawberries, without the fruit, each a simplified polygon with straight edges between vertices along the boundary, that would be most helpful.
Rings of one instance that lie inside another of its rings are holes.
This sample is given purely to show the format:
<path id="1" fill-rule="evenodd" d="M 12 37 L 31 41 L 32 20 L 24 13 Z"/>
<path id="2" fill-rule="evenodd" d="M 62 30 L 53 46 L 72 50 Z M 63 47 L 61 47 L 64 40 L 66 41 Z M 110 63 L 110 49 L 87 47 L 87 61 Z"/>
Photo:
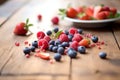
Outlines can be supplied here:
<path id="1" fill-rule="evenodd" d="M 98 28 L 108 26 L 110 23 L 120 20 L 120 17 L 104 20 L 79 20 L 65 17 L 66 20 L 73 22 L 73 25 L 84 28 Z"/>

